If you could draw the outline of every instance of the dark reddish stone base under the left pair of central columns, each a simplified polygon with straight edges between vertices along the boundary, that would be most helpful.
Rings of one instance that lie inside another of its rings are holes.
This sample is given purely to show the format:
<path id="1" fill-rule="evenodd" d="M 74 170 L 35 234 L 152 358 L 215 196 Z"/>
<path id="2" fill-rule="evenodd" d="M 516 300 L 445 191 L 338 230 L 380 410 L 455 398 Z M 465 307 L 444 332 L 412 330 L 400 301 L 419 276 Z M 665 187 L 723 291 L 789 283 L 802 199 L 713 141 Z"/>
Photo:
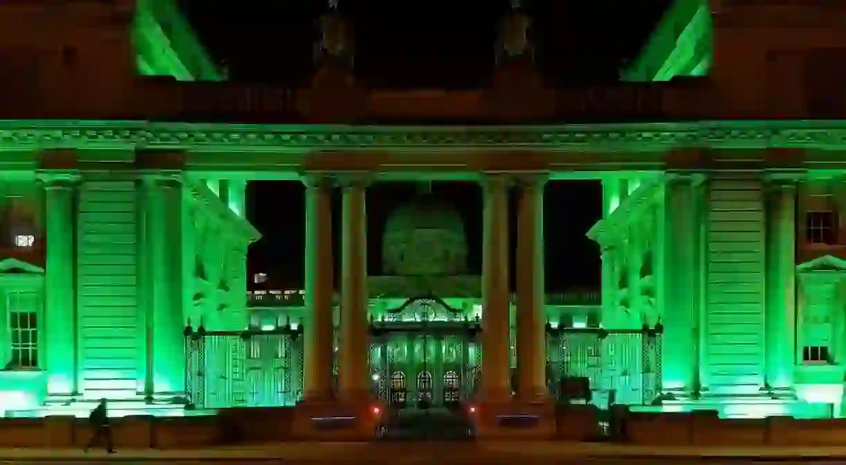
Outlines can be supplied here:
<path id="1" fill-rule="evenodd" d="M 371 397 L 305 400 L 294 408 L 296 440 L 371 440 L 385 409 Z"/>

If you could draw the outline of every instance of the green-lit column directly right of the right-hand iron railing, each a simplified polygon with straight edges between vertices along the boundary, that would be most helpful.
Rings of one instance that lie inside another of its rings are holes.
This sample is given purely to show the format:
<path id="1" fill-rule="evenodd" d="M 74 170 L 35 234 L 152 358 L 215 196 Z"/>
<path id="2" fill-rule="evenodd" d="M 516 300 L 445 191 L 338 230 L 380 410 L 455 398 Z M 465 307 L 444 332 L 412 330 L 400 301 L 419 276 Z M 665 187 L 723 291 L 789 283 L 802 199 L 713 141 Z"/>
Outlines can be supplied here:
<path id="1" fill-rule="evenodd" d="M 669 175 L 657 216 L 656 260 L 658 300 L 664 335 L 662 383 L 664 391 L 687 397 L 698 389 L 699 304 L 696 270 L 700 221 L 693 176 Z"/>

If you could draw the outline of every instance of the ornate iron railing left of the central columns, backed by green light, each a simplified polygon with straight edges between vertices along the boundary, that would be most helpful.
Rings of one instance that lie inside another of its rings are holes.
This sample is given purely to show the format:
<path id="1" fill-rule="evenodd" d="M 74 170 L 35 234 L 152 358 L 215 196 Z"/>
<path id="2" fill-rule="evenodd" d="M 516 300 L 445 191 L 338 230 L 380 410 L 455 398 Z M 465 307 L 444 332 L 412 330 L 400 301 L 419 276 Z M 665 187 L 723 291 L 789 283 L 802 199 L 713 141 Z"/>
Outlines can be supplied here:
<path id="1" fill-rule="evenodd" d="M 190 408 L 277 407 L 301 395 L 301 328 L 185 329 L 185 397 Z"/>

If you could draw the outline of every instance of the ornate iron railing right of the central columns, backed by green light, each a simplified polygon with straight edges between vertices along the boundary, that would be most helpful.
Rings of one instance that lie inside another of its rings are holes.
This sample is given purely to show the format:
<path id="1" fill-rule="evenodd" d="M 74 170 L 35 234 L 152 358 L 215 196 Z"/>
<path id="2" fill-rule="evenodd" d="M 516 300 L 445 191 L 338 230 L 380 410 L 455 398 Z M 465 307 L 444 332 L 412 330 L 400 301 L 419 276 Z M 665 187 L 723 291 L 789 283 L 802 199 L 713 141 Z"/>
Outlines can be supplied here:
<path id="1" fill-rule="evenodd" d="M 568 380 L 587 380 L 588 402 L 650 405 L 661 391 L 662 325 L 642 330 L 547 328 L 547 380 L 564 400 Z"/>

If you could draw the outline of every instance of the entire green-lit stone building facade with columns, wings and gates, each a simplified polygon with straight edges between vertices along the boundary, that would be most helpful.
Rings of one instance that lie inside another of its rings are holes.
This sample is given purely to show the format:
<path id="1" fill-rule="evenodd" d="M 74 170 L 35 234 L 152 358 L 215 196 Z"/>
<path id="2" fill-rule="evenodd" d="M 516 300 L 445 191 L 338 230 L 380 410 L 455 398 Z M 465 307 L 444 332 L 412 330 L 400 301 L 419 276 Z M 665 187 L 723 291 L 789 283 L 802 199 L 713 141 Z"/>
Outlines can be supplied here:
<path id="1" fill-rule="evenodd" d="M 622 72 L 627 83 L 608 90 L 655 96 L 661 115 L 645 123 L 539 124 L 518 114 L 506 125 L 496 89 L 368 94 L 343 86 L 349 107 L 366 108 L 355 120 L 380 124 L 345 124 L 329 111 L 337 100 L 326 101 L 339 94 L 312 88 L 268 103 L 293 106 L 310 116 L 305 123 L 208 123 L 189 112 L 212 105 L 207 88 L 167 76 L 223 75 L 173 5 L 150 0 L 115 14 L 128 18 L 120 26 L 135 63 L 131 79 L 111 68 L 92 78 L 116 83 L 98 87 L 80 110 L 96 118 L 67 118 L 72 101 L 59 101 L 39 118 L 0 122 L 11 238 L 0 257 L 0 327 L 8 328 L 0 333 L 0 410 L 82 413 L 102 397 L 115 401 L 115 414 L 162 415 L 186 405 L 203 412 L 335 399 L 528 406 L 552 402 L 564 378 L 585 377 L 603 406 L 613 391 L 616 402 L 642 409 L 840 416 L 846 125 L 706 116 L 726 108 L 752 115 L 766 100 L 754 85 L 725 84 L 742 60 L 720 40 L 753 7 L 715 13 L 715 4 L 679 1 Z M 33 14 L 3 8 L 9 18 Z M 711 24 L 715 14 L 725 25 Z M 766 30 L 763 19 L 749 21 Z M 343 43 L 330 38 L 338 39 L 324 37 L 323 52 L 342 57 Z M 505 55 L 525 49 L 519 38 L 503 42 Z M 80 63 L 91 65 L 93 55 L 80 53 Z M 706 74 L 711 80 L 696 80 Z M 224 110 L 242 111 L 226 107 L 239 89 L 225 84 L 214 96 L 227 97 Z M 535 105 L 526 112 L 537 121 L 552 119 L 548 101 L 578 101 L 605 119 L 625 105 L 556 92 L 526 91 L 520 104 Z M 772 114 L 810 112 L 773 105 Z M 488 123 L 382 123 L 447 110 Z M 640 120 L 651 116 L 637 110 Z M 420 205 L 398 211 L 402 227 L 388 227 L 386 275 L 367 276 L 368 183 L 421 179 L 481 184 L 481 276 L 462 268 L 460 227 L 438 223 L 448 207 Z M 537 284 L 543 186 L 572 179 L 603 186 L 603 219 L 587 232 L 602 248 L 598 298 L 547 294 Z M 302 293 L 246 292 L 247 249 L 260 236 L 244 218 L 250 180 L 306 184 Z M 327 253 L 334 189 L 343 196 L 337 283 Z M 519 205 L 514 294 L 510 195 Z M 394 241 L 390 232 L 406 236 Z M 426 241 L 458 245 L 442 260 L 404 260 L 404 250 Z"/>

